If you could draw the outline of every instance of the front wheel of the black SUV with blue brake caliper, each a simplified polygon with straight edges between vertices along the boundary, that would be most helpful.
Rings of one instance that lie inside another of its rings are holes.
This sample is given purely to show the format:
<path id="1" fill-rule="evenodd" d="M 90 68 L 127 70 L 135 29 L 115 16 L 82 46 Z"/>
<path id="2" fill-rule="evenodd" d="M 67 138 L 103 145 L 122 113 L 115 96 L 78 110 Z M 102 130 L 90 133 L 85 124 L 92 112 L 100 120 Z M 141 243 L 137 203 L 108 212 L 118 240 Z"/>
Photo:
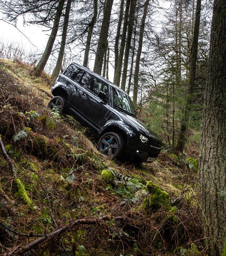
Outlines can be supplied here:
<path id="1" fill-rule="evenodd" d="M 99 138 L 97 146 L 103 155 L 119 159 L 123 155 L 125 143 L 118 133 L 108 132 Z"/>

